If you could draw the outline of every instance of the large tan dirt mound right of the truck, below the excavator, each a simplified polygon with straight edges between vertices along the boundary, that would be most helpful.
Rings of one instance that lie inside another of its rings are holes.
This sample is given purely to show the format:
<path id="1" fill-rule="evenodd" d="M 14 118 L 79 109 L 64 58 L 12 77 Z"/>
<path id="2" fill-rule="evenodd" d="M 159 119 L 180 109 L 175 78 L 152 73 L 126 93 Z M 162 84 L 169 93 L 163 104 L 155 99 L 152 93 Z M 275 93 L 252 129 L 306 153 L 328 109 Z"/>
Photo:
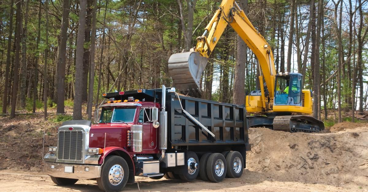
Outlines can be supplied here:
<path id="1" fill-rule="evenodd" d="M 356 127 L 356 126 L 354 126 Z M 337 133 L 250 128 L 247 169 L 278 181 L 368 185 L 368 127 Z"/>

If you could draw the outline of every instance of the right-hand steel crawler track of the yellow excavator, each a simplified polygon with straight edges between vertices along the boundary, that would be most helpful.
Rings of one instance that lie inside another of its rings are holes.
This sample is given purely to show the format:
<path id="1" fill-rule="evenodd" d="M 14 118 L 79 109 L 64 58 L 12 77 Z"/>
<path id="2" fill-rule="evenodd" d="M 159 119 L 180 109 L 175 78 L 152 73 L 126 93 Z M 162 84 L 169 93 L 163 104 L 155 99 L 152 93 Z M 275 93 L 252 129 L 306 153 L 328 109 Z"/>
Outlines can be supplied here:
<path id="1" fill-rule="evenodd" d="M 322 121 L 308 115 L 276 116 L 273 130 L 289 132 L 319 132 L 325 129 Z"/>

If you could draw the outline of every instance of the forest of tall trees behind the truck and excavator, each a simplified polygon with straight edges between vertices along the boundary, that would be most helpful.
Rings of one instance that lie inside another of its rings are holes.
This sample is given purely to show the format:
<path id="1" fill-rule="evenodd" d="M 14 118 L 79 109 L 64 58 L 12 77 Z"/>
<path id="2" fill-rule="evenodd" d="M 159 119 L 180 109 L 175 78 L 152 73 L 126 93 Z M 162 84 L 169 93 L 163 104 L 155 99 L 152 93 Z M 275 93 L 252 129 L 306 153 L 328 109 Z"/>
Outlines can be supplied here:
<path id="1" fill-rule="evenodd" d="M 220 0 L 0 0 L 0 110 L 47 108 L 91 119 L 100 95 L 171 86 Z M 367 0 L 238 0 L 270 43 L 277 72 L 299 72 L 314 116 L 354 121 L 368 106 Z M 205 99 L 244 104 L 257 89 L 252 51 L 228 26 L 202 75 Z M 82 115 L 82 107 L 87 115 Z M 358 110 L 358 111 L 355 111 Z"/>

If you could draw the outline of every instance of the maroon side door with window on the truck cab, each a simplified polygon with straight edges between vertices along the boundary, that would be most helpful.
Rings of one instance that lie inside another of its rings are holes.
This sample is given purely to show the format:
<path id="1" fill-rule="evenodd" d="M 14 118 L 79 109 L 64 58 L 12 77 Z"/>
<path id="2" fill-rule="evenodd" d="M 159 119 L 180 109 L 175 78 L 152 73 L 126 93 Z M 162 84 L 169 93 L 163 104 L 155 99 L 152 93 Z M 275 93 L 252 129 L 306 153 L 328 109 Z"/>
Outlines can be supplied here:
<path id="1" fill-rule="evenodd" d="M 142 149 L 143 150 L 153 150 L 157 146 L 156 135 L 157 128 L 152 126 L 152 122 L 149 122 L 149 115 L 152 114 L 150 109 L 140 109 L 139 118 L 137 124 L 142 125 L 143 127 L 143 138 L 142 138 Z M 151 118 L 151 117 L 150 117 Z"/>

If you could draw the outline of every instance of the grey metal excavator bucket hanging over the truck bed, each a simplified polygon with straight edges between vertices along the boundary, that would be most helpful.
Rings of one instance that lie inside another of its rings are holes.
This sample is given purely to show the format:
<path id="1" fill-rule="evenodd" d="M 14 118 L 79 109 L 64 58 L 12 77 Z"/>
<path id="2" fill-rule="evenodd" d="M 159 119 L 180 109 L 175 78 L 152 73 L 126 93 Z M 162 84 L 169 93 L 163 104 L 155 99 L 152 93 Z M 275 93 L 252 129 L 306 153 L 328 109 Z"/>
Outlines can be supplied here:
<path id="1" fill-rule="evenodd" d="M 181 94 L 200 97 L 199 82 L 208 59 L 198 52 L 176 53 L 169 58 L 169 73 Z"/>

